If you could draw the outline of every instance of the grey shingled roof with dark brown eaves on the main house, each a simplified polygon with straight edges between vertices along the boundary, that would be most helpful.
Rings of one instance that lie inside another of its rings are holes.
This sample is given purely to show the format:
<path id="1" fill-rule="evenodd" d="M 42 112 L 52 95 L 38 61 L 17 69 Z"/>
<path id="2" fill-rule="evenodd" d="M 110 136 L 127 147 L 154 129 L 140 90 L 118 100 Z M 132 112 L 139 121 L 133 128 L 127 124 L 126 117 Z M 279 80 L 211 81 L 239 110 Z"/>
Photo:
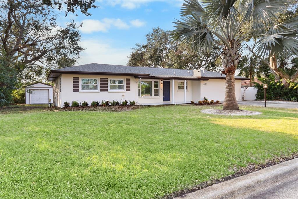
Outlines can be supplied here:
<path id="1" fill-rule="evenodd" d="M 194 79 L 208 80 L 210 78 L 225 79 L 226 76 L 221 73 L 203 70 L 184 70 L 175 68 L 153 68 L 141 66 L 122 66 L 110 64 L 85 64 L 51 70 L 48 80 L 55 80 L 60 74 L 114 74 L 131 75 L 136 78 L 161 78 L 161 79 Z M 198 75 L 199 74 L 199 75 Z M 235 79 L 249 79 L 235 76 Z"/>

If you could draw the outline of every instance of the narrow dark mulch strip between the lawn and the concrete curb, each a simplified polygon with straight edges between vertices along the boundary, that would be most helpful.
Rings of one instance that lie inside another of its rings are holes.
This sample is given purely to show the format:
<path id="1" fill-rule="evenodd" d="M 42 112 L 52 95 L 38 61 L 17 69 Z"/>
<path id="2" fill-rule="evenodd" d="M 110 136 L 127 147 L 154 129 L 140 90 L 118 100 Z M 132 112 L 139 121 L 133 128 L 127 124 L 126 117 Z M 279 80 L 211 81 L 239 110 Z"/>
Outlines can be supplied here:
<path id="1" fill-rule="evenodd" d="M 198 185 L 196 185 L 196 186 L 194 186 L 190 189 L 184 189 L 184 190 L 181 190 L 181 191 L 173 192 L 169 195 L 164 196 L 164 198 L 167 198 L 167 199 L 175 198 L 175 197 L 178 197 L 178 196 L 181 196 L 181 195 L 185 195 L 185 194 L 188 194 L 188 193 L 191 193 L 191 192 L 195 192 L 197 190 L 204 189 L 208 186 L 218 184 L 218 183 L 221 183 L 221 182 L 224 182 L 224 181 L 227 181 L 227 180 L 231 180 L 235 177 L 239 177 L 239 176 L 242 176 L 242 175 L 253 173 L 253 172 L 259 171 L 261 169 L 265 169 L 266 167 L 276 165 L 276 164 L 279 164 L 279 163 L 282 163 L 282 162 L 285 162 L 285 161 L 288 161 L 288 160 L 292 160 L 292 159 L 295 159 L 295 158 L 298 158 L 297 153 L 294 153 L 294 154 L 292 154 L 290 156 L 287 156 L 287 157 L 273 158 L 272 160 L 266 161 L 265 164 L 257 165 L 257 164 L 252 164 L 251 163 L 247 167 L 241 168 L 239 171 L 238 171 L 237 167 L 230 168 L 231 170 L 234 170 L 234 171 L 237 171 L 237 172 L 235 174 L 229 175 L 227 177 L 223 177 L 223 178 L 216 179 L 216 180 L 209 180 L 207 182 L 200 183 L 200 184 L 198 184 Z"/>

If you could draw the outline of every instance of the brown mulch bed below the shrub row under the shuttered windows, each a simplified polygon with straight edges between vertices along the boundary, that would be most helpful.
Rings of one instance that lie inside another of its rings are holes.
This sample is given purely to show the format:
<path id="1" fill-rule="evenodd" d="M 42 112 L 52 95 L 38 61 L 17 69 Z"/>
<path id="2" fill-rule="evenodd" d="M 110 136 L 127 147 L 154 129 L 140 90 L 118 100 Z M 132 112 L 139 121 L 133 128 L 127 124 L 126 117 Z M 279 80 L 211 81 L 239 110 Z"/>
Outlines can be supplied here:
<path id="1" fill-rule="evenodd" d="M 134 106 L 78 106 L 78 107 L 67 107 L 60 108 L 58 106 L 52 106 L 44 108 L 46 111 L 102 111 L 102 112 L 119 112 L 119 111 L 131 111 L 142 106 L 134 105 Z"/>

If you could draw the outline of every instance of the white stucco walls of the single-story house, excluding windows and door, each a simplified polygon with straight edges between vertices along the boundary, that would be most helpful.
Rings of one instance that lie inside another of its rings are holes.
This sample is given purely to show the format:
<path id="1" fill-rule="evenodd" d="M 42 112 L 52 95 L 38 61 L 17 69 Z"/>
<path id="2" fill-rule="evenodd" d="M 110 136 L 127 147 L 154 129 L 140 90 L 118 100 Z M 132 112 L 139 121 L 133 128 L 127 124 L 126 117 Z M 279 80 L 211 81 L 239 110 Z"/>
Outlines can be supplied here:
<path id="1" fill-rule="evenodd" d="M 120 92 L 73 92 L 73 77 L 79 78 L 130 78 L 131 79 L 131 91 Z M 87 101 L 89 104 L 92 101 L 103 100 L 134 100 L 142 105 L 162 104 L 163 101 L 163 84 L 161 79 L 154 79 L 159 81 L 159 96 L 158 97 L 138 97 L 138 81 L 134 76 L 107 76 L 107 75 L 79 75 L 79 74 L 62 74 L 58 77 L 61 78 L 61 92 L 56 91 L 54 87 L 54 96 L 56 96 L 57 102 L 55 105 L 63 107 L 63 103 L 68 101 L 71 103 L 74 100 L 78 102 Z M 152 80 L 152 79 L 142 79 Z M 167 81 L 167 80 L 163 80 Z M 174 101 L 175 103 L 184 103 L 184 91 L 178 91 L 178 82 L 184 82 L 184 80 L 174 81 Z M 195 81 L 187 80 L 188 89 L 186 91 L 186 102 L 191 100 L 197 102 L 202 100 L 206 96 L 209 100 L 224 100 L 225 96 L 225 79 L 209 79 L 208 81 Z M 204 84 L 207 85 L 204 85 Z M 172 80 L 170 80 L 170 102 L 172 102 Z M 241 81 L 235 80 L 235 92 L 236 99 L 241 100 Z M 58 89 L 57 89 L 58 90 Z M 54 97 L 55 98 L 55 97 Z M 56 101 L 54 99 L 54 101 Z M 169 103 L 170 103 L 169 102 Z"/>

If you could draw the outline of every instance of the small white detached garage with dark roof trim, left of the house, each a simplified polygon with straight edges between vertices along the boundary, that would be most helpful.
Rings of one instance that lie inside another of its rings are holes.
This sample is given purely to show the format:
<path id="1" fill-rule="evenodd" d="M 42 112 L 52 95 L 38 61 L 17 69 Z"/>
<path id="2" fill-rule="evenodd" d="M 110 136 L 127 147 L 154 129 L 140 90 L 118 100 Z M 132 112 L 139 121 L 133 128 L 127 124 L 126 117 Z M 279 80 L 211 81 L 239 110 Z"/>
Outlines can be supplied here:
<path id="1" fill-rule="evenodd" d="M 49 99 L 53 103 L 53 86 L 41 82 L 25 86 L 26 104 L 48 104 Z"/>

